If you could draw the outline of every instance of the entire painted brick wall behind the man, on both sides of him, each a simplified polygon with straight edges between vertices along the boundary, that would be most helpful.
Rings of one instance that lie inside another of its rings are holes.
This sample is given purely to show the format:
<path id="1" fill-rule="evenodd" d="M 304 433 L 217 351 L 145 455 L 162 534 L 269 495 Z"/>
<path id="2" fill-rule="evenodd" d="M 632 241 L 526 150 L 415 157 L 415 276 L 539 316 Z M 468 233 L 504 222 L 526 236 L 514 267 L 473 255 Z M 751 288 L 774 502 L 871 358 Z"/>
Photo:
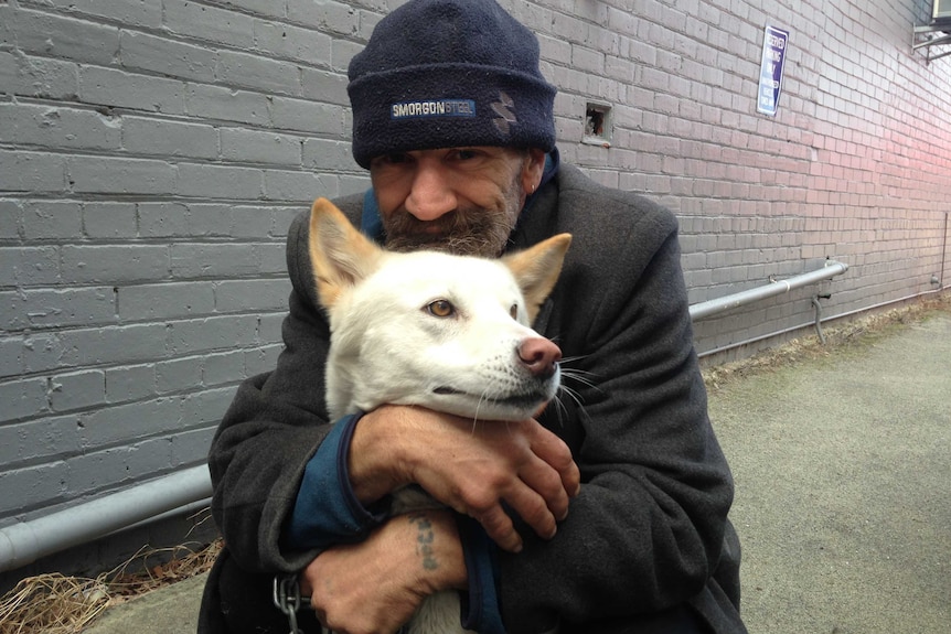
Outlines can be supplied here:
<path id="1" fill-rule="evenodd" d="M 0 526 L 203 461 L 281 348 L 291 218 L 367 184 L 345 69 L 398 3 L 0 1 Z M 502 4 L 538 34 L 563 157 L 678 215 L 693 302 L 850 265 L 699 322 L 702 352 L 809 323 L 819 290 L 835 315 L 947 283 L 927 0 Z M 776 117 L 768 23 L 790 30 Z"/>

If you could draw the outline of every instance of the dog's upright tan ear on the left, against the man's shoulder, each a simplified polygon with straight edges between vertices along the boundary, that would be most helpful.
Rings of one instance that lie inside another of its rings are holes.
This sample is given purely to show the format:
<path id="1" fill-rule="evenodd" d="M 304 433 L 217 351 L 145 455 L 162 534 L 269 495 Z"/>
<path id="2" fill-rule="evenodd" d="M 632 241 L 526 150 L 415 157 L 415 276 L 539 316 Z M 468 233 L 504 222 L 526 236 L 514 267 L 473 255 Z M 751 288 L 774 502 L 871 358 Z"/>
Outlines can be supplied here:
<path id="1" fill-rule="evenodd" d="M 375 271 L 384 252 L 327 198 L 318 198 L 310 208 L 308 247 L 317 293 L 324 308 L 331 308 L 342 291 Z"/>

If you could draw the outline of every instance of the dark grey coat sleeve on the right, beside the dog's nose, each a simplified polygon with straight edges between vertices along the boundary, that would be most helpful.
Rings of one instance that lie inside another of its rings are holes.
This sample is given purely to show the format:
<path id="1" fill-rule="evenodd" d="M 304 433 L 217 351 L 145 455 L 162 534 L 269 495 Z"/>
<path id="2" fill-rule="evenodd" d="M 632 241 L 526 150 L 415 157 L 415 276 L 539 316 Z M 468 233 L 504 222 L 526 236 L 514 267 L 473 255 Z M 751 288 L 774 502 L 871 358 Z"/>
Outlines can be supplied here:
<path id="1" fill-rule="evenodd" d="M 583 486 L 554 539 L 523 529 L 525 549 L 500 554 L 512 634 L 690 603 L 720 558 L 733 481 L 707 418 L 676 221 L 613 202 L 566 227 L 576 239 L 553 295 L 565 308 L 545 334 L 574 397 L 543 422 L 571 447 Z"/>

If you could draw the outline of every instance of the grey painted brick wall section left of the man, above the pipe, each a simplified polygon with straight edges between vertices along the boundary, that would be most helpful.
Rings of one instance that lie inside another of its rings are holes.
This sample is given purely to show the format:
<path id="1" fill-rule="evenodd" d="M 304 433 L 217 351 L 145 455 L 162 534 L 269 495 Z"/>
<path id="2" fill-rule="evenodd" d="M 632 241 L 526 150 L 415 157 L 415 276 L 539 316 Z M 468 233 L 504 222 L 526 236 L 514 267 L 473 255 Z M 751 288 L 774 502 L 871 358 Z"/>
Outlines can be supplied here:
<path id="1" fill-rule="evenodd" d="M 384 7 L 0 2 L 0 525 L 204 460 Z"/>

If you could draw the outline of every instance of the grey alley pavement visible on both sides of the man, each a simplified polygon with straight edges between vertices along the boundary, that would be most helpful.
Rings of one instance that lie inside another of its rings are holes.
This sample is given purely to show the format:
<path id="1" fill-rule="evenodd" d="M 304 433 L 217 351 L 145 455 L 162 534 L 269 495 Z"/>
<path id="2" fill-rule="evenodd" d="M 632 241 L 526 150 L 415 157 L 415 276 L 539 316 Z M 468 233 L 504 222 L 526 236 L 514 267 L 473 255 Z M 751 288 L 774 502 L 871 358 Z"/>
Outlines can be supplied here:
<path id="1" fill-rule="evenodd" d="M 759 634 L 951 632 L 951 313 L 710 393 Z M 204 577 L 89 634 L 194 632 Z"/>

